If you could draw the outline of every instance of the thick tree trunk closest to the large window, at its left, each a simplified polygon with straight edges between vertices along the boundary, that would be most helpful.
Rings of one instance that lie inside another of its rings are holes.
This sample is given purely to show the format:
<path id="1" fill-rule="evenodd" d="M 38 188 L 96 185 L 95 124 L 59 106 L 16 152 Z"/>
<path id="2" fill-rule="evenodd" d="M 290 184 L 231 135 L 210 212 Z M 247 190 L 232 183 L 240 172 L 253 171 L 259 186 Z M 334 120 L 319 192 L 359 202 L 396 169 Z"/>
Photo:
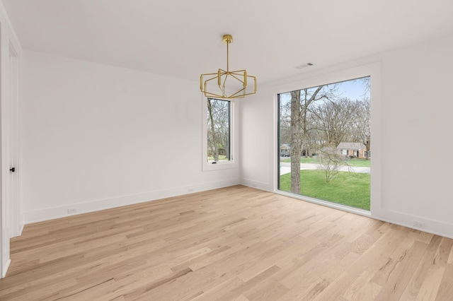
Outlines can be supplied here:
<path id="1" fill-rule="evenodd" d="M 291 92 L 291 192 L 300 194 L 300 90 Z"/>

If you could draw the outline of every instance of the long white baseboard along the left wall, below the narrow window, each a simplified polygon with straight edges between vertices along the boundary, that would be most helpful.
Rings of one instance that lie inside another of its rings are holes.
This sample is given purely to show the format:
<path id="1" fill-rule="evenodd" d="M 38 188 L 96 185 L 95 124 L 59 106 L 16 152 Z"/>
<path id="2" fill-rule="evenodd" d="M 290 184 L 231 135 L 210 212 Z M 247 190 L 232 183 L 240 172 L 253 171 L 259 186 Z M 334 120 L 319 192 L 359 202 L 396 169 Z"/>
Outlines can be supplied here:
<path id="1" fill-rule="evenodd" d="M 239 180 L 225 179 L 217 182 L 207 182 L 202 184 L 194 184 L 183 187 L 174 187 L 171 189 L 163 189 L 149 191 L 142 194 L 131 194 L 128 196 L 118 196 L 108 199 L 98 199 L 81 203 L 72 203 L 64 206 L 45 208 L 36 211 L 28 211 L 23 214 L 25 225 L 29 223 L 37 223 L 44 220 L 53 220 L 55 218 L 63 218 L 74 216 L 81 213 L 89 213 L 100 211 L 120 206 L 132 205 L 134 203 L 143 203 L 147 201 L 156 201 L 172 196 L 181 196 L 183 194 L 191 194 L 199 191 L 229 187 L 239 184 Z M 76 213 L 68 213 L 69 208 L 76 208 Z"/>

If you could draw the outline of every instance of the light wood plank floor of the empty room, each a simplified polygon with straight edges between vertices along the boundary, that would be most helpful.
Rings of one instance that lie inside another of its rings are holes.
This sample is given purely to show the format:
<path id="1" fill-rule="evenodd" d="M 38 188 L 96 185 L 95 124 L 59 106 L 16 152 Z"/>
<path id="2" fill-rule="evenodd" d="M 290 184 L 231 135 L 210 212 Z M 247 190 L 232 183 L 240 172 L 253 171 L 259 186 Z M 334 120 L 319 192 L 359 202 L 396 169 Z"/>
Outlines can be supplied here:
<path id="1" fill-rule="evenodd" d="M 452 245 L 235 186 L 27 225 L 0 300 L 453 300 Z"/>

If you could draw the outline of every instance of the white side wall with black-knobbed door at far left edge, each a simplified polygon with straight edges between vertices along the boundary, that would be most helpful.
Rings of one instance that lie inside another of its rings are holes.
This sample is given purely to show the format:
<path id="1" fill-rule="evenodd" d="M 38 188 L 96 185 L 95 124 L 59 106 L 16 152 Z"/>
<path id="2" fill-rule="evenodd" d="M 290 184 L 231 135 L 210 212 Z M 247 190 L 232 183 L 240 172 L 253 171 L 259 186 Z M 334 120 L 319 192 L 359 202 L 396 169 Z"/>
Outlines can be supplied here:
<path id="1" fill-rule="evenodd" d="M 21 235 L 21 59 L 18 42 L 0 1 L 0 278 L 11 263 L 9 242 Z M 11 172 L 11 167 L 16 171 Z M 12 196 L 12 197 L 11 197 Z"/>

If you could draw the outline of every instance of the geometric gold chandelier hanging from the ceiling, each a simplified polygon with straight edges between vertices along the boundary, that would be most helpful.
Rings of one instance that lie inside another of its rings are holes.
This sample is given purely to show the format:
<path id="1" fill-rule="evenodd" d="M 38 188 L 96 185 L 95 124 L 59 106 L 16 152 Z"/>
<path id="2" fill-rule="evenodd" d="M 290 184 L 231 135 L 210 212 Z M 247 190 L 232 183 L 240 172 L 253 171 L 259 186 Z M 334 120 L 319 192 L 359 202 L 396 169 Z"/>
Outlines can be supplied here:
<path id="1" fill-rule="evenodd" d="M 217 73 L 205 73 L 200 76 L 200 90 L 207 97 L 243 98 L 256 93 L 256 77 L 248 76 L 246 70 L 229 71 L 228 45 L 233 42 L 231 35 L 224 35 L 226 43 L 226 71 L 219 69 Z M 203 77 L 207 78 L 203 81 Z M 253 92 L 247 86 L 248 79 L 253 78 Z M 228 81 L 227 81 L 228 80 Z"/>

